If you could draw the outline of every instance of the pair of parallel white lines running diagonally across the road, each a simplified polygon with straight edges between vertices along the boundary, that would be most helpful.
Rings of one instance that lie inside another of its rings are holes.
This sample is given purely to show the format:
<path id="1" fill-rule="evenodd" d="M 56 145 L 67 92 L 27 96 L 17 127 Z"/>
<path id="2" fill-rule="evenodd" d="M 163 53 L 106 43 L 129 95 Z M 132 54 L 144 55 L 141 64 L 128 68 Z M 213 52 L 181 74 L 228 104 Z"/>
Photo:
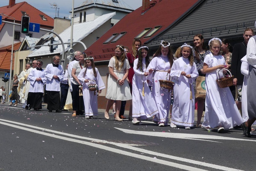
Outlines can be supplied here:
<path id="1" fill-rule="evenodd" d="M 111 147 L 108 147 L 108 146 L 95 144 L 93 142 L 116 145 L 119 148 L 120 148 L 120 145 L 122 145 L 123 148 L 127 148 L 127 149 L 130 149 L 130 150 L 136 151 L 136 153 L 141 152 L 141 153 L 144 153 L 144 154 L 160 156 L 160 157 L 163 157 L 163 158 L 178 160 L 178 161 L 182 161 L 182 162 L 185 162 L 185 163 L 192 163 L 192 164 L 195 164 L 195 165 L 205 166 L 205 167 L 209 167 L 209 168 L 213 168 L 213 169 L 219 169 L 219 170 L 224 170 L 224 171 L 242 171 L 242 170 L 238 170 L 238 169 L 233 169 L 233 168 L 228 168 L 228 167 L 224 167 L 224 166 L 214 165 L 214 164 L 211 164 L 211 163 L 206 163 L 206 162 L 201 162 L 201 161 L 196 161 L 196 160 L 171 156 L 171 155 L 167 155 L 167 154 L 157 153 L 157 152 L 149 151 L 149 150 L 146 150 L 146 149 L 141 149 L 141 148 L 138 148 L 138 147 L 131 147 L 131 145 L 127 145 L 127 144 L 114 143 L 114 142 L 105 141 L 105 140 L 99 140 L 99 139 L 87 138 L 87 137 L 82 137 L 82 136 L 76 136 L 76 135 L 73 135 L 73 134 L 68 134 L 68 133 L 64 133 L 64 132 L 54 131 L 54 130 L 51 130 L 51 129 L 36 127 L 36 126 L 27 125 L 27 124 L 23 124 L 23 123 L 18 123 L 18 122 L 14 122 L 14 121 L 10 121 L 10 120 L 4 120 L 4 119 L 0 119 L 0 120 L 4 121 L 4 122 L 9 122 L 9 123 L 17 124 L 17 125 L 22 125 L 22 126 L 26 126 L 26 127 L 30 127 L 30 128 L 34 128 L 34 129 L 47 131 L 47 132 L 61 134 L 61 135 L 64 135 L 64 136 L 89 140 L 89 141 L 91 141 L 91 143 L 87 142 L 87 141 L 81 141 L 81 140 L 77 140 L 77 139 L 61 137 L 61 136 L 58 136 L 58 135 L 54 135 L 52 133 L 46 133 L 46 132 L 42 132 L 42 131 L 37 131 L 37 130 L 25 128 L 25 127 L 20 127 L 20 126 L 17 126 L 17 125 L 12 125 L 12 124 L 8 124 L 8 123 L 0 122 L 0 124 L 11 126 L 11 127 L 14 127 L 14 128 L 23 129 L 23 130 L 26 130 L 26 131 L 30 131 L 30 132 L 34 132 L 34 133 L 38 133 L 38 134 L 42 134 L 42 135 L 45 135 L 45 136 L 66 140 L 66 141 L 77 142 L 77 143 L 80 143 L 80 144 L 85 144 L 85 145 L 97 147 L 97 148 L 100 148 L 100 149 L 104 149 L 104 150 L 107 150 L 107 151 L 110 151 L 110 152 L 123 154 L 123 155 L 131 156 L 131 157 L 135 157 L 135 158 L 139 158 L 139 159 L 143 159 L 143 160 L 147 160 L 147 161 L 153 161 L 153 162 L 156 162 L 156 163 L 160 163 L 160 164 L 163 164 L 163 165 L 176 167 L 176 168 L 180 168 L 180 169 L 184 169 L 184 170 L 199 170 L 199 171 L 201 171 L 201 170 L 204 170 L 204 169 L 189 167 L 189 166 L 186 166 L 186 165 L 181 165 L 181 164 L 169 162 L 169 161 L 166 161 L 166 160 L 160 160 L 160 159 L 155 159 L 155 158 L 152 158 L 152 157 L 138 155 L 138 154 L 122 151 L 122 150 L 119 150 L 119 149 L 116 149 L 116 148 L 111 148 Z"/>

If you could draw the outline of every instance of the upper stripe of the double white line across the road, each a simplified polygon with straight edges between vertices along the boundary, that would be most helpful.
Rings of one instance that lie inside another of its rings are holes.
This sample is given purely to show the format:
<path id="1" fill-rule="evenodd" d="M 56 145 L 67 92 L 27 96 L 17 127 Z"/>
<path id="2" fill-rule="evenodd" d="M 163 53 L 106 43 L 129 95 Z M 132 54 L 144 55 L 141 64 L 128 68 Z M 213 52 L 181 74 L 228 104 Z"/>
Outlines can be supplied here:
<path id="1" fill-rule="evenodd" d="M 196 161 L 196 160 L 171 156 L 171 155 L 167 155 L 167 154 L 157 153 L 157 152 L 149 151 L 149 150 L 146 150 L 146 149 L 141 149 L 141 148 L 138 148 L 138 147 L 133 147 L 132 145 L 126 145 L 126 144 L 122 144 L 122 143 L 114 143 L 114 142 L 105 141 L 105 140 L 99 140 L 99 139 L 87 138 L 87 137 L 82 137 L 82 136 L 76 136 L 76 135 L 65 133 L 65 132 L 54 131 L 54 130 L 51 130 L 51 129 L 45 129 L 45 128 L 36 127 L 36 126 L 32 126 L 32 125 L 27 125 L 27 124 L 23 124 L 23 123 L 18 123 L 18 122 L 14 122 L 14 121 L 10 121 L 10 120 L 4 120 L 4 119 L 0 119 L 0 120 L 2 120 L 4 122 L 9 122 L 9 123 L 17 124 L 17 125 L 22 125 L 22 126 L 26 126 L 26 127 L 30 127 L 30 128 L 34 128 L 34 129 L 47 131 L 47 132 L 61 134 L 61 135 L 64 135 L 64 136 L 89 140 L 89 141 L 92 141 L 92 142 L 106 143 L 106 144 L 116 145 L 118 147 L 120 147 L 120 145 L 122 145 L 122 148 L 131 149 L 131 150 L 136 151 L 137 153 L 141 152 L 141 153 L 145 153 L 145 154 L 161 156 L 161 157 L 169 158 L 169 159 L 172 159 L 172 160 L 178 160 L 178 161 L 182 161 L 182 162 L 186 162 L 186 163 L 192 163 L 192 164 L 195 164 L 195 165 L 210 167 L 210 168 L 213 168 L 213 169 L 219 169 L 219 170 L 224 170 L 224 171 L 242 171 L 242 170 L 238 170 L 238 169 L 228 168 L 228 167 L 225 167 L 225 166 L 214 165 L 214 164 L 211 164 L 211 163 L 206 163 L 206 162 L 201 162 L 201 161 Z"/>

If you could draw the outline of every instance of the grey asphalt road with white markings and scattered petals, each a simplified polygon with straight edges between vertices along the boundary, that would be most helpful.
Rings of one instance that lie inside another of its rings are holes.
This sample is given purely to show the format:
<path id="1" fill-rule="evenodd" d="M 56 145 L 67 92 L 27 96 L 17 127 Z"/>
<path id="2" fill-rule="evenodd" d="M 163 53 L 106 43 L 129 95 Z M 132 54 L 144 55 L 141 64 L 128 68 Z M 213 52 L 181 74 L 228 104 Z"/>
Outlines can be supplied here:
<path id="1" fill-rule="evenodd" d="M 255 170 L 256 135 L 0 105 L 0 171 Z M 196 125 L 196 124 L 195 124 Z"/>

